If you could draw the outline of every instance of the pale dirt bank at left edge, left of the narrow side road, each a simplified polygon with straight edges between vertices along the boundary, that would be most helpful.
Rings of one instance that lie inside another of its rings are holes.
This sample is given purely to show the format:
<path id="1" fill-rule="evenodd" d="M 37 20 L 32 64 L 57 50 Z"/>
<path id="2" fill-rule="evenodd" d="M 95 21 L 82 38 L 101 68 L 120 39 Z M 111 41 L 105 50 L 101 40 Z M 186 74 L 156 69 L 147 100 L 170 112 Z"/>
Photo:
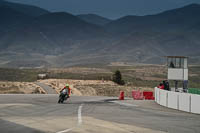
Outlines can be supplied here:
<path id="1" fill-rule="evenodd" d="M 41 87 L 31 82 L 0 82 L 0 94 L 44 94 Z"/>

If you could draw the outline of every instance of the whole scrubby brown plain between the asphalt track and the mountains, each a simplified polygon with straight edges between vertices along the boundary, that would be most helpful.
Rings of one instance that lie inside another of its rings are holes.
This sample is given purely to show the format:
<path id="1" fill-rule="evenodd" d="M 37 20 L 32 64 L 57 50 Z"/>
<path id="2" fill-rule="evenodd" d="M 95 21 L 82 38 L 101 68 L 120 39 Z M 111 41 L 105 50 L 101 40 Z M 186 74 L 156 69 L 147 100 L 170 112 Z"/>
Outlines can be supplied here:
<path id="1" fill-rule="evenodd" d="M 190 66 L 189 68 L 189 87 L 200 88 L 200 66 Z M 66 83 L 69 83 L 74 95 L 83 96 L 118 96 L 120 91 L 125 91 L 126 96 L 131 96 L 132 90 L 153 91 L 155 86 L 163 80 L 167 80 L 166 65 L 127 64 L 120 62 L 111 63 L 108 66 L 83 65 L 45 70 L 0 70 L 0 93 L 42 93 L 42 88 L 34 84 L 39 72 L 46 73 L 48 78 L 50 78 L 40 82 L 53 87 L 58 93 Z M 111 81 L 116 70 L 120 70 L 122 78 L 126 83 L 125 86 L 119 86 Z M 13 77 L 18 78 L 14 79 Z"/>

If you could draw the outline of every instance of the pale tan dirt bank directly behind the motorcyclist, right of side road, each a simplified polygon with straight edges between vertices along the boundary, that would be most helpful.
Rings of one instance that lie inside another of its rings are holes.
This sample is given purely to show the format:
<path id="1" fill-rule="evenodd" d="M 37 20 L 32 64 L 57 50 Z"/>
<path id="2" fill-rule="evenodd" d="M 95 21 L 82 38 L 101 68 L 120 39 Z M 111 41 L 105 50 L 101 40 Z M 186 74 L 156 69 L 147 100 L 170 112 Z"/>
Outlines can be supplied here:
<path id="1" fill-rule="evenodd" d="M 124 91 L 125 96 L 131 97 L 132 90 L 153 91 L 152 88 L 119 86 L 112 81 L 103 80 L 48 79 L 39 82 L 53 87 L 58 93 L 68 83 L 72 88 L 73 95 L 76 96 L 119 96 L 120 91 Z"/>

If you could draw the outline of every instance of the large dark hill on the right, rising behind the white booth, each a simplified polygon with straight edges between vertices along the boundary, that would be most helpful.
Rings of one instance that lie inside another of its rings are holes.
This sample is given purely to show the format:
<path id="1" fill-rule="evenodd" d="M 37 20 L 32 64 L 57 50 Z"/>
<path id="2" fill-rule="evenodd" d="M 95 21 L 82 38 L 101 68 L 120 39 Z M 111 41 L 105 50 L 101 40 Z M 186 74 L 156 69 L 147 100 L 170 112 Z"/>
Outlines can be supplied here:
<path id="1" fill-rule="evenodd" d="M 156 15 L 125 16 L 105 25 L 105 29 L 117 38 L 113 53 L 124 49 L 122 55 L 129 61 L 158 63 L 166 55 L 191 56 L 198 52 L 199 12 L 200 5 L 192 4 Z"/>

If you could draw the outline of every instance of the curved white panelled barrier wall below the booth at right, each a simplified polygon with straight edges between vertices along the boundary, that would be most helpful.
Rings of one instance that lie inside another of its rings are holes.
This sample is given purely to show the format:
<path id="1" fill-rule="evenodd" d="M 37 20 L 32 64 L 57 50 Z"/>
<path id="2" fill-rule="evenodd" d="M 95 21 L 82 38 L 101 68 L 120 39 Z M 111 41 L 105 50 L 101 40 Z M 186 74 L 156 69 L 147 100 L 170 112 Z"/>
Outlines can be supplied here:
<path id="1" fill-rule="evenodd" d="M 155 88 L 155 102 L 172 109 L 200 114 L 200 95 Z"/>

